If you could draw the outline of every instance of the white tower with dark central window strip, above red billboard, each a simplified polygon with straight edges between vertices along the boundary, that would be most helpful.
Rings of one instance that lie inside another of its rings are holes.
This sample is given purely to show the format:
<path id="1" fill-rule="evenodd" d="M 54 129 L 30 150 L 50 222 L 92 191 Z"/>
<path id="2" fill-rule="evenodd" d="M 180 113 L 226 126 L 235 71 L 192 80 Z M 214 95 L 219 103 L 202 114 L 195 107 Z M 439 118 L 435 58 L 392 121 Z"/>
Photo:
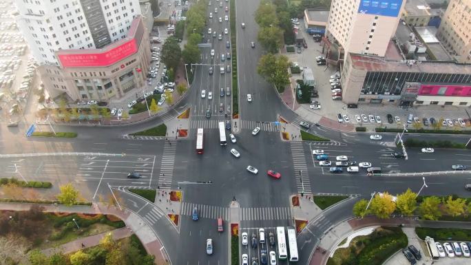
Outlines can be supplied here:
<path id="1" fill-rule="evenodd" d="M 40 64 L 59 65 L 58 50 L 100 49 L 124 39 L 138 0 L 14 0 L 17 24 Z"/>

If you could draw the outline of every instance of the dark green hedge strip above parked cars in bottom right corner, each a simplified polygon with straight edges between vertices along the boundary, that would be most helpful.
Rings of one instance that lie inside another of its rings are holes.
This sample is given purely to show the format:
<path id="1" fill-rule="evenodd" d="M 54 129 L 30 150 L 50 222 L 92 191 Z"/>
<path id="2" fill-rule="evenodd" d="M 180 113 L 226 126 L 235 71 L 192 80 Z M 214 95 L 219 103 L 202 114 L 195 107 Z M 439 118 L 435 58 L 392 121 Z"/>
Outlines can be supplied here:
<path id="1" fill-rule="evenodd" d="M 428 235 L 435 241 L 438 240 L 454 240 L 454 241 L 471 241 L 471 229 L 437 229 L 431 227 L 416 227 L 415 233 L 422 239 Z"/>

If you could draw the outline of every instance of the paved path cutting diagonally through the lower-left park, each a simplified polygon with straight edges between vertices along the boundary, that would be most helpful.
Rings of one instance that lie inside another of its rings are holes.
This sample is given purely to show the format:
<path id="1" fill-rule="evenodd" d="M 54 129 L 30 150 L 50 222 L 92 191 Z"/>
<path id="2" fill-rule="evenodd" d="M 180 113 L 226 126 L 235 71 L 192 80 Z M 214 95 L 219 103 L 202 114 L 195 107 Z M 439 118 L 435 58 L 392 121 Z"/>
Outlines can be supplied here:
<path id="1" fill-rule="evenodd" d="M 90 235 L 88 237 L 82 237 L 77 240 L 67 242 L 65 244 L 61 244 L 53 248 L 46 248 L 46 249 L 43 249 L 41 252 L 47 256 L 51 256 L 57 252 L 67 254 L 67 253 L 79 251 L 82 248 L 90 248 L 91 246 L 99 245 L 100 240 L 109 233 L 112 234 L 114 240 L 120 240 L 121 238 L 130 237 L 132 235 L 131 229 L 129 229 L 128 227 L 122 227 L 121 229 L 115 229 L 112 231 L 99 233 L 97 235 Z"/>

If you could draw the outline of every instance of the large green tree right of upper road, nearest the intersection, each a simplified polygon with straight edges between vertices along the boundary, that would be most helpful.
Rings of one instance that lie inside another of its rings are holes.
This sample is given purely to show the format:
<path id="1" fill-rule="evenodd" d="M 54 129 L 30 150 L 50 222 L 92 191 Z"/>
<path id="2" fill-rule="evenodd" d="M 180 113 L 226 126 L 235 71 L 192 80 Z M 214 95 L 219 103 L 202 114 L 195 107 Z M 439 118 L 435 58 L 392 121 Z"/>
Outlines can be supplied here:
<path id="1" fill-rule="evenodd" d="M 283 91 L 289 85 L 289 62 L 284 55 L 275 56 L 266 54 L 258 61 L 257 72 L 269 83 L 277 87 L 278 91 Z"/>

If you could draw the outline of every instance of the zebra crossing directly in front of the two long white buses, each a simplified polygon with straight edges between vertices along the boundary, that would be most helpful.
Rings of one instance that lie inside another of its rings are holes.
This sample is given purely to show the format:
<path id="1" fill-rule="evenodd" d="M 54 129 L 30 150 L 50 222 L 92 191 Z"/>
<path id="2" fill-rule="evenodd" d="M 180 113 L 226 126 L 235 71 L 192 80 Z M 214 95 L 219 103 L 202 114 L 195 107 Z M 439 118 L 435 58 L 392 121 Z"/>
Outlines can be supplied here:
<path id="1" fill-rule="evenodd" d="M 240 216 L 242 221 L 291 220 L 291 209 L 289 207 L 241 208 Z"/>

